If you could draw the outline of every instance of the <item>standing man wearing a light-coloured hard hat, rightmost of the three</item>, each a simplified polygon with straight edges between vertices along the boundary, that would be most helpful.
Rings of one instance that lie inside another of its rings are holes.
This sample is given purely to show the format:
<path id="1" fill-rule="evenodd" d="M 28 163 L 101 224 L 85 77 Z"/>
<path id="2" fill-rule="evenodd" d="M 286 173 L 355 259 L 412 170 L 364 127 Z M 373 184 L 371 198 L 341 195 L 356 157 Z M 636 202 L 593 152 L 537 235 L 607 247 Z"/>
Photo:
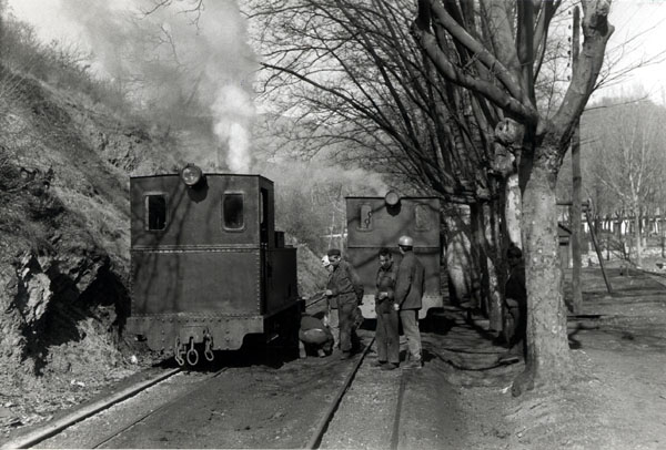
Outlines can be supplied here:
<path id="1" fill-rule="evenodd" d="M 414 255 L 414 239 L 401 236 L 397 241 L 403 255 L 395 279 L 394 308 L 400 311 L 400 320 L 407 338 L 410 362 L 407 368 L 421 368 L 421 333 L 418 331 L 418 310 L 425 283 L 425 268 Z"/>

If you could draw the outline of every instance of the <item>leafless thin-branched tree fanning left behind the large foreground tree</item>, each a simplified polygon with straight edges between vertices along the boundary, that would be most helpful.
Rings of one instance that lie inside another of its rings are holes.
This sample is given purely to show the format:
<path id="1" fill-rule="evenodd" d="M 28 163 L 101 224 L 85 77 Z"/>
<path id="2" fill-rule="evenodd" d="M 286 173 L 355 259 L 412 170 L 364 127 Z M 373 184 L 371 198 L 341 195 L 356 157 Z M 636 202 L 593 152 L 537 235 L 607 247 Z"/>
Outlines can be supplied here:
<path id="1" fill-rule="evenodd" d="M 453 203 L 470 204 L 474 267 L 501 327 L 504 180 L 488 176 L 497 116 L 446 83 L 410 34 L 412 0 L 249 2 L 290 153 L 330 154 Z M 480 119 L 482 120 L 480 122 Z"/>

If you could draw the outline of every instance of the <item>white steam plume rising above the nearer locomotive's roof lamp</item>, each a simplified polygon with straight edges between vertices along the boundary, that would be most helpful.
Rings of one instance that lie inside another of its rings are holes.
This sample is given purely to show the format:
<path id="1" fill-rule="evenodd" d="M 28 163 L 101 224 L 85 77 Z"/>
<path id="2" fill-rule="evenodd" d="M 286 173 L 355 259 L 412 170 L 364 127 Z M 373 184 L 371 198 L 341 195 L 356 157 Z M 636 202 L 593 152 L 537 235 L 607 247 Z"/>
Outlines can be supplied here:
<path id="1" fill-rule="evenodd" d="M 212 122 L 216 154 L 198 145 L 188 150 L 190 161 L 248 172 L 255 114 L 249 86 L 256 63 L 235 0 L 205 1 L 200 16 L 188 12 L 190 0 L 141 13 L 153 4 L 68 0 L 61 8 L 82 28 L 95 70 L 130 90 L 132 100 L 154 112 L 158 122 Z"/>

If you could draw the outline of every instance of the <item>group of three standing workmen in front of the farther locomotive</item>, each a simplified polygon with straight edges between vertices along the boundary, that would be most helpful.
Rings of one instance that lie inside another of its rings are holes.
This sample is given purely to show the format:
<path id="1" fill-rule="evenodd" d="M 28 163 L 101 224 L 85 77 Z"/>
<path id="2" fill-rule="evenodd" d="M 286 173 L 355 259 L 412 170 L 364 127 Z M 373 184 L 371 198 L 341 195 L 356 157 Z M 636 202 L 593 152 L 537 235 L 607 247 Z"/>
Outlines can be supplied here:
<path id="1" fill-rule="evenodd" d="M 410 236 L 398 239 L 402 255 L 400 265 L 394 264 L 389 248 L 379 254 L 375 311 L 377 316 L 377 366 L 393 370 L 400 366 L 398 321 L 407 339 L 408 368 L 421 368 L 421 334 L 418 310 L 422 307 L 425 269 L 414 255 L 414 241 Z M 354 268 L 342 259 L 341 252 L 327 252 L 331 273 L 325 295 L 329 297 L 330 325 L 340 327 L 341 359 L 347 359 L 354 350 L 354 328 L 357 326 L 359 304 L 363 298 L 363 284 Z"/>

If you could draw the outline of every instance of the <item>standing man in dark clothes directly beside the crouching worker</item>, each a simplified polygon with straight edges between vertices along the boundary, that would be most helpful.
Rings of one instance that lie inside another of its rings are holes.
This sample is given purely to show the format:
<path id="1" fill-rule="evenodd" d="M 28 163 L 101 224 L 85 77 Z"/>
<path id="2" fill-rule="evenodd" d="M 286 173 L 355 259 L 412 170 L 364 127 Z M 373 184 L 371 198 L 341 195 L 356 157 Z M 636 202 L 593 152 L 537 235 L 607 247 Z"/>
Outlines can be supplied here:
<path id="1" fill-rule="evenodd" d="M 337 248 L 331 248 L 327 256 L 333 270 L 329 275 L 325 294 L 331 309 L 337 309 L 341 359 L 349 359 L 352 356 L 354 311 L 359 300 L 363 298 L 363 284 L 356 270 L 347 262 L 342 260 L 342 254 Z"/>

